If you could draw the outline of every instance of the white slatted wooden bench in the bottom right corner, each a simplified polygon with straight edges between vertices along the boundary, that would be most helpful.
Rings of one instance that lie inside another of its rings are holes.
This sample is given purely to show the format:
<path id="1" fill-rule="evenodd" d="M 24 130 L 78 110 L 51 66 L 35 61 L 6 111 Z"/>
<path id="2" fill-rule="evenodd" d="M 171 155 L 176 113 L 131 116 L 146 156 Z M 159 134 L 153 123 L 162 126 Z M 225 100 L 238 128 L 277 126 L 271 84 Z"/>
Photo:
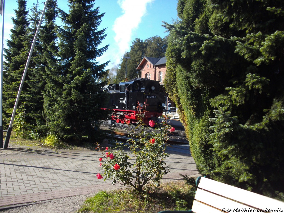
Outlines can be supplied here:
<path id="1" fill-rule="evenodd" d="M 284 212 L 284 202 L 208 178 L 197 178 L 198 187 L 189 211 L 159 213 L 214 212 Z"/>

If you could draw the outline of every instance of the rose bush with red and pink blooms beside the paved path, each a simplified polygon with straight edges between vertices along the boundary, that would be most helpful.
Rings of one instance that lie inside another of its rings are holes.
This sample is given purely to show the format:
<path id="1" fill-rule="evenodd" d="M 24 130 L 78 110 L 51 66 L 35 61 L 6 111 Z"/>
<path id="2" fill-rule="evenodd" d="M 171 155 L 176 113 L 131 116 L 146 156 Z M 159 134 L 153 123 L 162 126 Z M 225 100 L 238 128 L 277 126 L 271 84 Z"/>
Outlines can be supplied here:
<path id="1" fill-rule="evenodd" d="M 147 103 L 147 102 L 146 102 Z M 147 106 L 147 104 L 144 106 Z M 169 167 L 164 162 L 167 153 L 166 141 L 168 134 L 174 131 L 174 128 L 167 125 L 167 117 L 161 124 L 158 124 L 155 130 L 145 126 L 145 118 L 143 112 L 145 108 L 137 106 L 138 122 L 140 132 L 137 135 L 137 130 L 131 130 L 128 140 L 128 149 L 125 151 L 125 146 L 117 144 L 112 153 L 106 149 L 101 149 L 98 145 L 104 158 L 102 160 L 102 176 L 104 180 L 112 179 L 112 184 L 120 183 L 122 185 L 133 187 L 138 192 L 149 192 L 153 188 L 159 186 L 164 174 L 169 172 Z M 155 125 L 155 122 L 149 122 L 149 125 Z M 109 148 L 108 148 L 109 150 Z M 100 158 L 101 159 L 101 158 Z M 99 161 L 100 161 L 99 159 Z M 97 175 L 98 179 L 101 176 Z"/>

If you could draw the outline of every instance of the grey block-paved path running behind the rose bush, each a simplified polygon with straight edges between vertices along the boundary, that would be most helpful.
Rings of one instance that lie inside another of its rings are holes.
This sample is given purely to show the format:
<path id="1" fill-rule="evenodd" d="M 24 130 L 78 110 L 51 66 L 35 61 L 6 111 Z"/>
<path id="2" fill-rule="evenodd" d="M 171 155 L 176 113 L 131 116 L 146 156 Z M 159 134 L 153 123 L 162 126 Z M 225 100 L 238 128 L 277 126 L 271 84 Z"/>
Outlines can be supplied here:
<path id="1" fill-rule="evenodd" d="M 163 181 L 181 179 L 179 174 L 198 176 L 188 145 L 167 148 L 170 172 Z M 97 179 L 101 152 L 36 148 L 0 149 L 0 208 L 61 197 L 116 189 L 111 180 Z"/>

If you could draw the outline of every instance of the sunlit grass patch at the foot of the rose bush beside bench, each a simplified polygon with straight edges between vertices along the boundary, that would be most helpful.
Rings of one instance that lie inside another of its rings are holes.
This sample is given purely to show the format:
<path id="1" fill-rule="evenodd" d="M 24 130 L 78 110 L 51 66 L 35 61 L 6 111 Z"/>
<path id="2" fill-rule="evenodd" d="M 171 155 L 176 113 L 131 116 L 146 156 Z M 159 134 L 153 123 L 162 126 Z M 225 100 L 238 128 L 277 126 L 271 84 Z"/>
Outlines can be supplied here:
<path id="1" fill-rule="evenodd" d="M 164 183 L 147 195 L 130 190 L 101 191 L 88 198 L 78 212 L 159 212 L 189 210 L 194 200 L 192 185 L 185 181 Z"/>

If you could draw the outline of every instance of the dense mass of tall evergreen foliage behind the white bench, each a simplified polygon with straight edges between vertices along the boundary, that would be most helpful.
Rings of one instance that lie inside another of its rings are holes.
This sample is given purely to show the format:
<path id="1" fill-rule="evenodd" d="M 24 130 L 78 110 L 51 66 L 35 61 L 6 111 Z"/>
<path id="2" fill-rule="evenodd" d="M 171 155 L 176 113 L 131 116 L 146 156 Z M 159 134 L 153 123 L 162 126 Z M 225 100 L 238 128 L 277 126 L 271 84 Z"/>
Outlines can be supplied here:
<path id="1" fill-rule="evenodd" d="M 283 1 L 180 0 L 167 91 L 200 173 L 283 199 Z M 280 193 L 279 193 L 280 192 Z"/>

